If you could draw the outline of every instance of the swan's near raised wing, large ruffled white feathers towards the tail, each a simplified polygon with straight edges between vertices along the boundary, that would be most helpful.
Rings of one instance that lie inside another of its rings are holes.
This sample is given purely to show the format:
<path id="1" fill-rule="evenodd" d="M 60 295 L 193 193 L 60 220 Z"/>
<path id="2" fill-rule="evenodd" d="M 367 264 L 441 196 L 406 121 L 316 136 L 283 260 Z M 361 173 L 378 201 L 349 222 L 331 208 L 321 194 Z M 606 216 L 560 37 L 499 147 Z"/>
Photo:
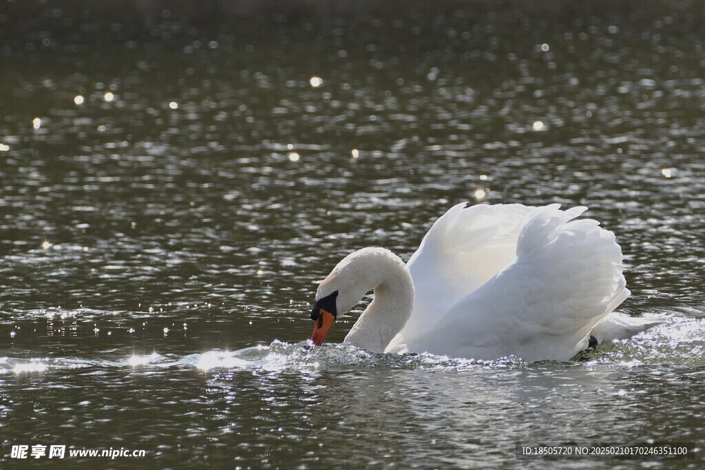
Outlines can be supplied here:
<path id="1" fill-rule="evenodd" d="M 405 338 L 410 350 L 534 361 L 587 348 L 592 328 L 630 292 L 614 234 L 593 220 L 570 221 L 584 210 L 537 209 L 521 230 L 517 259 L 440 315 L 425 337 Z"/>

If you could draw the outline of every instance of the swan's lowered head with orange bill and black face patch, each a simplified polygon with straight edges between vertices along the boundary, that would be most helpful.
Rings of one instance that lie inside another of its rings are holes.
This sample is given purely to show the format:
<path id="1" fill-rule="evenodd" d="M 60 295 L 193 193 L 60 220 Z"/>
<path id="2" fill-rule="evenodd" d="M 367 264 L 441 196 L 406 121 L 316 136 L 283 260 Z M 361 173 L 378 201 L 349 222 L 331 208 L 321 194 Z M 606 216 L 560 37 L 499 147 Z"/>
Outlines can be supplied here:
<path id="1" fill-rule="evenodd" d="M 311 340 L 315 345 L 321 345 L 338 316 L 348 313 L 376 285 L 379 258 L 390 256 L 397 258 L 384 248 L 360 249 L 345 256 L 321 282 L 311 311 L 315 322 Z"/>

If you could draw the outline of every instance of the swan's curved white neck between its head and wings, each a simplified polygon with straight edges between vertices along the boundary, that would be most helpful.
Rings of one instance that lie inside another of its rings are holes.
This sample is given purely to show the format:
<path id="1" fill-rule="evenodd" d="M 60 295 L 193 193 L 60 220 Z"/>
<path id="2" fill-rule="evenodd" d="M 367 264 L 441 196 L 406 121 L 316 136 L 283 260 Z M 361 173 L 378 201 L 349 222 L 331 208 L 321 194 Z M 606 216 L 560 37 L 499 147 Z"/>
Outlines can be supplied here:
<path id="1" fill-rule="evenodd" d="M 404 327 L 414 309 L 414 283 L 403 261 L 392 254 L 372 256 L 369 287 L 374 300 L 362 312 L 344 342 L 371 352 L 384 352 L 389 342 Z"/>

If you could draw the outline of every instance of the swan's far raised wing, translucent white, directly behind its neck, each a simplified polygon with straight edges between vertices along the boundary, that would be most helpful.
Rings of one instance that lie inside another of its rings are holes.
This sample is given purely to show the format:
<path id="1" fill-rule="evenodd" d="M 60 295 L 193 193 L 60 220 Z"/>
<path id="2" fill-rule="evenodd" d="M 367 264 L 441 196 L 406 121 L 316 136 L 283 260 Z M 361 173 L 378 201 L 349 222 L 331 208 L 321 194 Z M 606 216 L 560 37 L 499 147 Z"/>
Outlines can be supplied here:
<path id="1" fill-rule="evenodd" d="M 508 266 L 516 254 L 520 228 L 534 210 L 522 204 L 463 203 L 443 214 L 407 263 L 415 308 L 403 334 L 424 328 Z"/>

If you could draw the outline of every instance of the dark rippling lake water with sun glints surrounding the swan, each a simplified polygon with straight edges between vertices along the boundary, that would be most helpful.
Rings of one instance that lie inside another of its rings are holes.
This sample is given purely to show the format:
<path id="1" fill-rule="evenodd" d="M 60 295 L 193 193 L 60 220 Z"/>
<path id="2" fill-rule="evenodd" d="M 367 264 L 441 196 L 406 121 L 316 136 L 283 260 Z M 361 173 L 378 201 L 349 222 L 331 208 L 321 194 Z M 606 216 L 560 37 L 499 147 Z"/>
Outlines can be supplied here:
<path id="1" fill-rule="evenodd" d="M 531 4 L 3 2 L 0 466 L 701 468 L 704 9 Z M 668 322 L 567 362 L 369 354 L 355 314 L 305 347 L 345 254 L 467 200 L 589 206 Z M 110 448 L 145 457 L 68 456 Z"/>

